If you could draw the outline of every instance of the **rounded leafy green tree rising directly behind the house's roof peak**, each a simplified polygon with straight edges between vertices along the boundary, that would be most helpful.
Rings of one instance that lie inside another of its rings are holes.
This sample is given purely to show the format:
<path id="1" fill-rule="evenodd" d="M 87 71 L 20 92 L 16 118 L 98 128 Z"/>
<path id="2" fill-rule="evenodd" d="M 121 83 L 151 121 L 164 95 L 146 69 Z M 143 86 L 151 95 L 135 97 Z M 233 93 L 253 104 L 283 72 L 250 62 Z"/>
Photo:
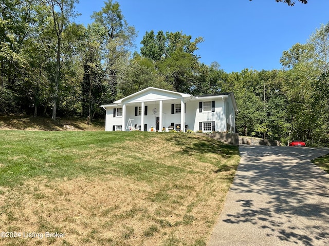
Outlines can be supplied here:
<path id="1" fill-rule="evenodd" d="M 142 56 L 153 61 L 174 90 L 191 93 L 196 84 L 200 84 L 196 80 L 200 75 L 198 69 L 203 69 L 198 64 L 199 57 L 194 54 L 200 42 L 203 42 L 202 37 L 192 41 L 192 36 L 182 32 L 166 32 L 165 35 L 162 31 L 155 36 L 152 30 L 143 37 L 140 51 Z"/>

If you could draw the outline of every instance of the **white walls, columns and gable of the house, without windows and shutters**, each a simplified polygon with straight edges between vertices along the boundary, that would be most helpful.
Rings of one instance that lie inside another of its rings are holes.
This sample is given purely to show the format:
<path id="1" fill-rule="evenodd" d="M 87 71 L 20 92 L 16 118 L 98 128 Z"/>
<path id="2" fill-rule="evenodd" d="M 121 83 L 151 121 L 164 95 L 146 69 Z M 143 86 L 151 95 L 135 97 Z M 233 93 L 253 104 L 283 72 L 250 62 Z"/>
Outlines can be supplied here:
<path id="1" fill-rule="evenodd" d="M 185 96 L 185 95 L 184 95 Z M 122 108 L 118 105 L 104 105 L 106 107 L 105 116 L 105 131 L 113 131 L 113 126 L 127 126 L 129 119 L 132 120 L 133 126 L 140 126 L 141 130 L 144 130 L 144 126 L 141 126 L 141 115 L 135 115 L 135 107 L 141 107 L 141 102 L 144 101 L 144 106 L 148 107 L 147 115 L 144 116 L 144 124 L 147 124 L 147 131 L 151 126 L 156 127 L 156 117 L 159 117 L 160 103 L 162 100 L 162 126 L 159 126 L 159 130 L 162 127 L 168 128 L 171 123 L 181 124 L 181 113 L 172 114 L 172 104 L 181 104 L 181 95 L 178 93 L 172 93 L 167 91 L 147 90 L 140 94 L 133 95 L 122 103 L 126 106 L 125 122 L 123 124 L 123 117 L 113 117 L 114 108 Z M 202 96 L 202 97 L 186 97 L 186 113 L 184 114 L 185 125 L 188 125 L 187 130 L 194 132 L 199 130 L 199 122 L 215 122 L 215 131 L 235 131 L 235 111 L 231 95 L 223 96 Z M 199 112 L 199 102 L 202 101 L 215 101 L 215 111 Z M 120 103 L 121 104 L 121 103 Z M 153 109 L 156 108 L 156 112 Z M 117 110 L 116 110 L 117 111 Z M 137 111 L 138 112 L 138 111 Z M 227 129 L 231 126 L 231 129 Z M 181 126 L 184 127 L 184 126 Z M 122 131 L 125 131 L 123 128 Z"/>

